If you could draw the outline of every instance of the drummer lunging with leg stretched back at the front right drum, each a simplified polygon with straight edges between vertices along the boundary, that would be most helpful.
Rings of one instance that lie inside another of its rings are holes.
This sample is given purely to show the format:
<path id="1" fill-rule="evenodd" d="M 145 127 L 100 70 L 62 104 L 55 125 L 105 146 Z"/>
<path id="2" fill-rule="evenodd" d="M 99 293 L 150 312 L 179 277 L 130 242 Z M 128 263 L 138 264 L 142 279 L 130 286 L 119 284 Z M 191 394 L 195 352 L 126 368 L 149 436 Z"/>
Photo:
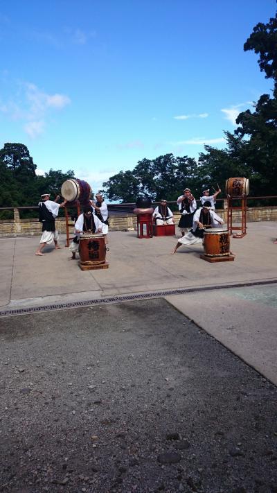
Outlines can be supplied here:
<path id="1" fill-rule="evenodd" d="M 193 229 L 186 233 L 182 238 L 179 238 L 172 254 L 176 253 L 181 245 L 189 246 L 195 245 L 196 243 L 202 243 L 206 228 L 218 227 L 223 223 L 224 220 L 220 218 L 220 216 L 217 216 L 211 207 L 211 202 L 207 200 L 204 202 L 203 207 L 197 209 L 193 216 Z"/>

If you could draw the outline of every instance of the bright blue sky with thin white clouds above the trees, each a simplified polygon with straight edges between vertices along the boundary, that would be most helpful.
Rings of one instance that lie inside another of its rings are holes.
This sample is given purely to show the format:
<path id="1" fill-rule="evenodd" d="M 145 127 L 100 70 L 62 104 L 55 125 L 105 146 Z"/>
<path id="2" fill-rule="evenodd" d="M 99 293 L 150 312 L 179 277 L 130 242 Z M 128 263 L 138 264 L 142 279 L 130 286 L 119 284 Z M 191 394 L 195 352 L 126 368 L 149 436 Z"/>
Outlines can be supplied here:
<path id="1" fill-rule="evenodd" d="M 0 148 L 93 191 L 143 158 L 224 148 L 273 83 L 243 45 L 276 0 L 0 0 Z"/>

